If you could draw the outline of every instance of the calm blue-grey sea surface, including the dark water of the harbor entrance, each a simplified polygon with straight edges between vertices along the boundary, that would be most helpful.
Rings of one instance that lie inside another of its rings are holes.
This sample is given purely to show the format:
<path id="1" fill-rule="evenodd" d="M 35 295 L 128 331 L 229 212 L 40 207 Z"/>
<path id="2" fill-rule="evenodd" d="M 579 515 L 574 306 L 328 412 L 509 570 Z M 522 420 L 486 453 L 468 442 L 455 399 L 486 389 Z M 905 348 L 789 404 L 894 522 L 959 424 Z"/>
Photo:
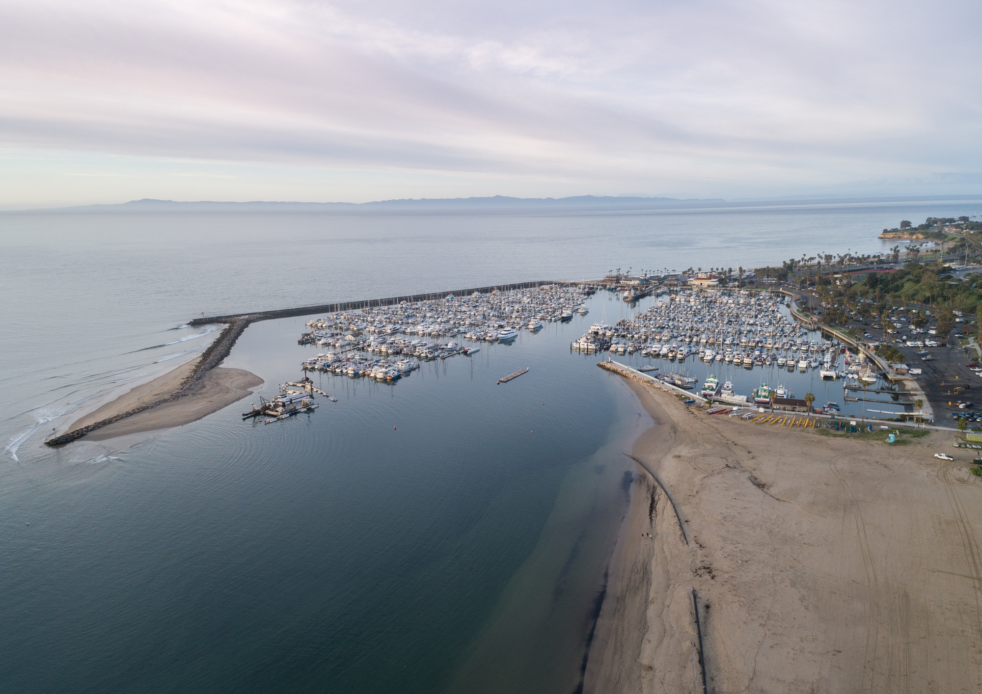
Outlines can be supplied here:
<path id="1" fill-rule="evenodd" d="M 982 201 L 0 214 L 0 687 L 573 691 L 627 506 L 622 453 L 650 423 L 569 349 L 627 310 L 608 294 L 394 386 L 321 376 L 339 401 L 275 426 L 243 423 L 246 399 L 134 448 L 41 443 L 193 357 L 214 335 L 182 326 L 202 312 L 877 252 L 900 219 L 962 214 Z M 314 353 L 305 320 L 250 326 L 227 365 L 275 392 Z M 842 402 L 810 372 L 761 371 L 735 370 L 737 391 Z"/>

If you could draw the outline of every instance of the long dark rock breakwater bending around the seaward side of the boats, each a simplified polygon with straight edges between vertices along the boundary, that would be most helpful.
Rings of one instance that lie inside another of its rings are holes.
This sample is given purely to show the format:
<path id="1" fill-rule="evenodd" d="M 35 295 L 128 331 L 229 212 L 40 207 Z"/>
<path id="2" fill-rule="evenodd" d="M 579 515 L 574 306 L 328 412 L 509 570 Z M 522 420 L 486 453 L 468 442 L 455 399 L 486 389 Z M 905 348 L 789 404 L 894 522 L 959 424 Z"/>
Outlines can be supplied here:
<path id="1" fill-rule="evenodd" d="M 194 395 L 197 391 L 197 387 L 200 385 L 201 379 L 205 375 L 218 366 L 225 357 L 229 355 L 232 351 L 232 347 L 235 346 L 236 341 L 243 334 L 243 331 L 251 323 L 257 323 L 263 320 L 273 320 L 276 318 L 292 318 L 294 316 L 305 316 L 313 313 L 334 313 L 337 311 L 352 311 L 361 308 L 369 308 L 371 306 L 384 306 L 393 305 L 397 303 L 402 303 L 403 301 L 413 302 L 413 301 L 425 301 L 427 299 L 433 298 L 446 298 L 450 295 L 469 295 L 474 294 L 490 294 L 491 292 L 508 292 L 511 290 L 525 290 L 534 289 L 536 287 L 541 287 L 543 285 L 566 285 L 571 284 L 568 282 L 551 282 L 546 280 L 538 280 L 535 282 L 518 282 L 509 285 L 494 285 L 489 287 L 477 287 L 465 290 L 456 290 L 448 292 L 431 292 L 428 294 L 409 294 L 406 296 L 389 296 L 386 298 L 370 298 L 361 299 L 357 301 L 340 301 L 335 303 L 322 303 L 316 306 L 299 306 L 296 308 L 281 308 L 272 311 L 258 311 L 254 313 L 237 313 L 233 315 L 225 316 L 209 316 L 202 318 L 195 318 L 189 321 L 189 325 L 207 325 L 214 323 L 226 323 L 226 327 L 219 333 L 215 341 L 209 345 L 203 352 L 201 356 L 198 357 L 197 362 L 191 369 L 191 373 L 181 382 L 174 393 L 167 396 L 166 398 L 161 398 L 160 400 L 154 400 L 153 402 L 147 402 L 123 412 L 118 412 L 111 417 L 106 419 L 93 422 L 79 429 L 73 429 L 60 436 L 53 437 L 44 442 L 45 446 L 57 447 L 70 444 L 73 441 L 78 441 L 86 434 L 90 434 L 96 429 L 101 429 L 104 426 L 118 422 L 121 419 L 126 419 L 127 417 L 132 417 L 139 412 L 144 412 L 147 409 L 157 407 L 159 405 L 165 404 L 167 402 L 173 402 L 175 400 L 180 400 L 181 398 L 186 398 L 188 396 Z"/>

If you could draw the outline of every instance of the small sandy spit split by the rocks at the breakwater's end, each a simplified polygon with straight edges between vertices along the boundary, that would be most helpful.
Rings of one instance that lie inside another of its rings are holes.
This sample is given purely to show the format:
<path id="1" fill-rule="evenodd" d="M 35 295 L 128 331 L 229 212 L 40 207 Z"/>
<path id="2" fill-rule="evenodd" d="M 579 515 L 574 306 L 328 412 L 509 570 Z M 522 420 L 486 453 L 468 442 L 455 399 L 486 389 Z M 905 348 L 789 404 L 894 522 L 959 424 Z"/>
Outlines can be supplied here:
<path id="1" fill-rule="evenodd" d="M 136 386 L 116 400 L 106 402 L 98 409 L 89 412 L 72 423 L 69 430 L 80 429 L 94 422 L 111 417 L 138 407 L 148 402 L 160 400 L 174 393 L 193 369 L 195 360 L 191 360 L 162 376 Z M 249 389 L 262 385 L 263 380 L 255 374 L 243 369 L 228 369 L 217 367 L 207 371 L 200 381 L 195 384 L 190 394 L 157 405 L 152 409 L 138 412 L 118 422 L 97 429 L 82 438 L 84 441 L 106 441 L 120 436 L 136 434 L 158 429 L 169 429 L 182 426 L 200 419 L 212 412 L 226 407 L 236 400 L 242 400 L 250 395 Z"/>

